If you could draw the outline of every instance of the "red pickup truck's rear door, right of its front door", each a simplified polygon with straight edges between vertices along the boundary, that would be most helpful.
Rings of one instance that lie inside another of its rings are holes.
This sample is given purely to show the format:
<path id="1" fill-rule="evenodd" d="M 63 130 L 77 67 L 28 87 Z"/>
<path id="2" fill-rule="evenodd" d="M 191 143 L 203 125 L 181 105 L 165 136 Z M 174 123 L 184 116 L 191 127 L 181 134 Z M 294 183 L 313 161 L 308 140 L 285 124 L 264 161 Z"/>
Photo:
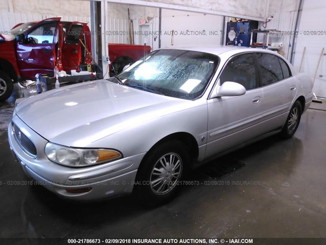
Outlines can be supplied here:
<path id="1" fill-rule="evenodd" d="M 91 33 L 87 22 L 74 21 L 71 24 L 67 22 L 63 24 L 66 32 L 65 41 L 62 47 L 62 64 L 66 71 L 79 71 L 80 65 L 92 64 L 91 55 L 88 54 L 86 48 L 91 52 Z M 81 40 L 86 48 L 79 41 Z"/>

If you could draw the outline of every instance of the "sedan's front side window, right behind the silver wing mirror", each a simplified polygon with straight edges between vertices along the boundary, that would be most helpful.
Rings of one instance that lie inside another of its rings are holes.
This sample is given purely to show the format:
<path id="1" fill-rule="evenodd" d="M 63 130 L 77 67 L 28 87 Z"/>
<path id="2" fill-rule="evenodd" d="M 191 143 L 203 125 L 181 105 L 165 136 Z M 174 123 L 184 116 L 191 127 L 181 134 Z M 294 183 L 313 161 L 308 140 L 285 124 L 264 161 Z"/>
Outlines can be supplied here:
<path id="1" fill-rule="evenodd" d="M 220 84 L 224 82 L 241 84 L 247 90 L 257 88 L 256 68 L 252 54 L 233 57 L 222 71 Z"/>

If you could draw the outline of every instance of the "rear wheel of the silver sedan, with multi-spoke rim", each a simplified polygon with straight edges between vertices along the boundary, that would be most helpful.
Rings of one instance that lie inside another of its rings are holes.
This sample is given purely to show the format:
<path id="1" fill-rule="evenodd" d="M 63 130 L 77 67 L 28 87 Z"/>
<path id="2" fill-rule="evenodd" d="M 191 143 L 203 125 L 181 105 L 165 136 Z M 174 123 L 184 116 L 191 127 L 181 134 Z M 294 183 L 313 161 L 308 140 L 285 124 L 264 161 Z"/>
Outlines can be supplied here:
<path id="1" fill-rule="evenodd" d="M 297 127 L 299 126 L 302 114 L 302 106 L 299 101 L 294 102 L 290 113 L 286 119 L 285 125 L 283 126 L 281 137 L 283 139 L 289 139 L 295 133 Z"/>

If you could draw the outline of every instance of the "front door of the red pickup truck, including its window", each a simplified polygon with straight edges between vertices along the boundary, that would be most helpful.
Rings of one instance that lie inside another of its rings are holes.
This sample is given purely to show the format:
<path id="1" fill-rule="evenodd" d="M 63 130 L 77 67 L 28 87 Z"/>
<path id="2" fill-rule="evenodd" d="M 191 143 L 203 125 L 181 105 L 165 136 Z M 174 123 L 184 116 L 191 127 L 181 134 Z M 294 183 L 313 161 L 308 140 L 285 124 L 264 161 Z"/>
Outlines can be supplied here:
<path id="1" fill-rule="evenodd" d="M 16 58 L 23 79 L 34 79 L 37 73 L 53 73 L 58 65 L 57 55 L 62 45 L 60 19 L 48 18 L 36 23 L 26 31 L 23 40 L 17 41 Z"/>

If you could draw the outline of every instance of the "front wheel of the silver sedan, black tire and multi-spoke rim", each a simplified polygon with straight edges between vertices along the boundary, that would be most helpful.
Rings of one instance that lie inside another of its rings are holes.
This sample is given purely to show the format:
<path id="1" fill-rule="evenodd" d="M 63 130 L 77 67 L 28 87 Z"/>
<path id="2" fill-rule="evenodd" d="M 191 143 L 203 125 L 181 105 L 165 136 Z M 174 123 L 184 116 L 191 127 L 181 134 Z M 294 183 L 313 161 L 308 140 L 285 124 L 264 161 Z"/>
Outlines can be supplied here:
<path id="1" fill-rule="evenodd" d="M 185 149 L 181 141 L 171 140 L 159 144 L 145 156 L 134 186 L 141 203 L 155 206 L 175 196 L 189 162 Z"/>

